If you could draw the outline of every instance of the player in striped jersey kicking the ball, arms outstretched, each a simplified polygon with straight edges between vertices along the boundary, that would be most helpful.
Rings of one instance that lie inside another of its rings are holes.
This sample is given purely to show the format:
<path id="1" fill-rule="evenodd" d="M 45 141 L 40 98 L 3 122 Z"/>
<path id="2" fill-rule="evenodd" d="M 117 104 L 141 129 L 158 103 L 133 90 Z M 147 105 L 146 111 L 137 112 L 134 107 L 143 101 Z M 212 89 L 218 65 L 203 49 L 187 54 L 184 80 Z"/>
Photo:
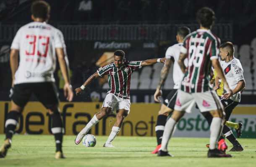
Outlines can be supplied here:
<path id="1" fill-rule="evenodd" d="M 86 135 L 86 133 L 97 124 L 102 118 L 109 114 L 116 112 L 116 122 L 112 127 L 110 136 L 103 147 L 114 147 L 112 146 L 112 141 L 118 135 L 120 127 L 123 123 L 123 119 L 130 112 L 130 85 L 131 85 L 131 75 L 134 70 L 141 68 L 142 66 L 150 66 L 154 63 L 161 62 L 164 63 L 165 58 L 156 58 L 146 61 L 125 61 L 125 53 L 121 50 L 117 50 L 114 53 L 114 62 L 108 64 L 107 66 L 101 67 L 96 73 L 91 75 L 85 83 L 77 88 L 76 95 L 81 94 L 81 92 L 96 78 L 99 76 L 108 75 L 109 89 L 107 91 L 107 96 L 105 97 L 101 111 L 96 113 L 89 123 L 81 130 L 76 136 L 75 143 L 79 144 L 81 139 Z"/>

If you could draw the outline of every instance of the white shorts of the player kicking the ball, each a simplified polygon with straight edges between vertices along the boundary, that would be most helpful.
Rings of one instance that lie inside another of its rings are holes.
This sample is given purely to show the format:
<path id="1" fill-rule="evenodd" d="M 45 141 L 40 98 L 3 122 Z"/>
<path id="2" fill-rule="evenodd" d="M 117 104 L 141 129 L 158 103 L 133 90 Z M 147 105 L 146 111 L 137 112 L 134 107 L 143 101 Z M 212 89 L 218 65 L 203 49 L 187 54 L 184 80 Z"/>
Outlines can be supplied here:
<path id="1" fill-rule="evenodd" d="M 110 114 L 112 114 L 114 111 L 119 109 L 128 110 L 128 114 L 129 114 L 130 106 L 131 106 L 131 102 L 129 99 L 123 99 L 121 97 L 115 96 L 114 94 L 107 94 L 102 104 L 102 108 L 103 107 L 112 108 Z"/>

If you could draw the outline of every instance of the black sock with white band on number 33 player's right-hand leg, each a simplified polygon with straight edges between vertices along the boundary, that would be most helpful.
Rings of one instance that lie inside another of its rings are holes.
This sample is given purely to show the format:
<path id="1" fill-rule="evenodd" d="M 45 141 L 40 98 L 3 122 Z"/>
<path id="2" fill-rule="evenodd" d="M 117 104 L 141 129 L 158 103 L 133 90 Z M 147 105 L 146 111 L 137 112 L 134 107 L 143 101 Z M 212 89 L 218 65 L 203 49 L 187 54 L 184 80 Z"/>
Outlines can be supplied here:
<path id="1" fill-rule="evenodd" d="M 56 152 L 62 152 L 62 140 L 63 140 L 63 124 L 60 117 L 60 113 L 54 113 L 52 117 L 52 134 L 55 137 Z"/>

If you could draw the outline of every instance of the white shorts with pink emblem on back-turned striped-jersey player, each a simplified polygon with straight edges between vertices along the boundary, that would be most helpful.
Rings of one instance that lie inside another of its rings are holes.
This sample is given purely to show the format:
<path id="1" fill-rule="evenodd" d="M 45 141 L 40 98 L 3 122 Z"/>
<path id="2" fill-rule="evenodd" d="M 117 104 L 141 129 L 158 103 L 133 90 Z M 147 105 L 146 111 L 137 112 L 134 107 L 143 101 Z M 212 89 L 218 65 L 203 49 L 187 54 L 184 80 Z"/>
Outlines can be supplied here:
<path id="1" fill-rule="evenodd" d="M 178 95 L 174 106 L 175 110 L 190 113 L 195 104 L 197 104 L 201 112 L 213 111 L 217 109 L 222 109 L 222 111 L 224 111 L 222 103 L 215 91 L 190 94 L 180 89 L 178 90 Z"/>

